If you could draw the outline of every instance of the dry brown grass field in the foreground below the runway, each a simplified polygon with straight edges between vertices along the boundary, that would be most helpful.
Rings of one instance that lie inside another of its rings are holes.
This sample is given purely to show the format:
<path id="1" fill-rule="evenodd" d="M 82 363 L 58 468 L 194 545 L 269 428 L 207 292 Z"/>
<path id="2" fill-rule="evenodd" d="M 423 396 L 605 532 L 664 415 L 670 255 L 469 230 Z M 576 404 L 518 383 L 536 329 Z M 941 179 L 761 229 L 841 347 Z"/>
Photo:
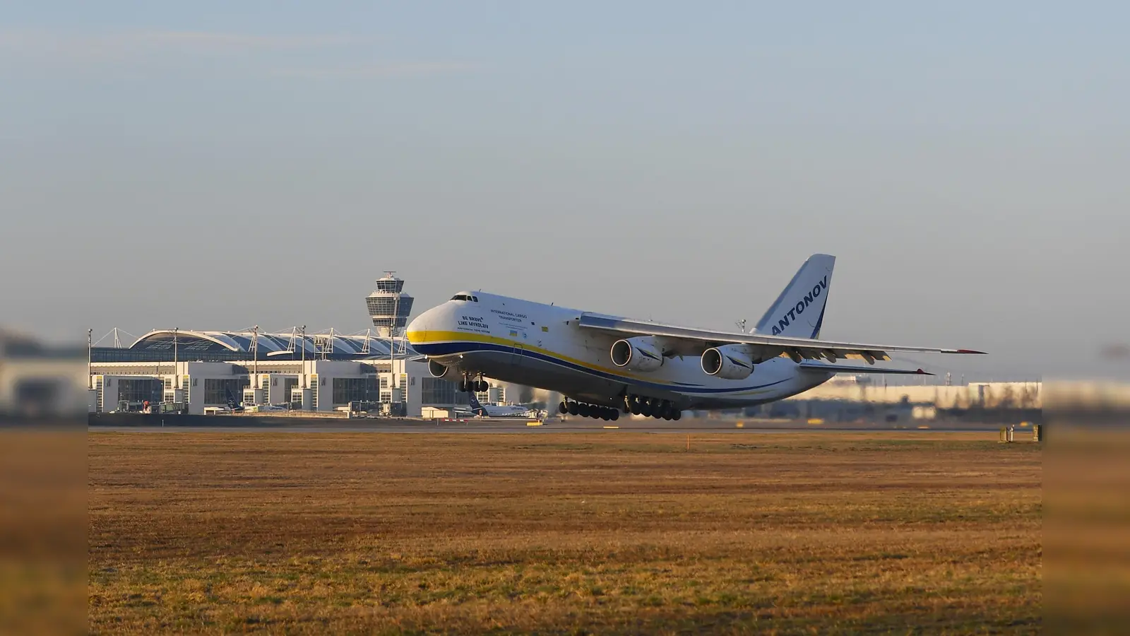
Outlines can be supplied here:
<path id="1" fill-rule="evenodd" d="M 1041 630 L 996 433 L 92 432 L 92 633 Z"/>

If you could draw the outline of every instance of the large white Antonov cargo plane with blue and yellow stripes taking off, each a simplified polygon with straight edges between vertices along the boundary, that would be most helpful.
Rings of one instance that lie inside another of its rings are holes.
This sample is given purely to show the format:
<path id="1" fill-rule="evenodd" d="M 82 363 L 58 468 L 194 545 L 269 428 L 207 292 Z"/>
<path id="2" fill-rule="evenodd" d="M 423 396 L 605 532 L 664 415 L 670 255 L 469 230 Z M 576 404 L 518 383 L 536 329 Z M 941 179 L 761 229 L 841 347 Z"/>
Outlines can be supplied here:
<path id="1" fill-rule="evenodd" d="M 484 377 L 559 392 L 563 413 L 677 420 L 685 410 L 783 399 L 835 373 L 925 373 L 875 367 L 890 353 L 982 353 L 819 338 L 835 257 L 812 255 L 750 332 L 635 320 L 484 292 L 459 292 L 408 326 L 433 377 L 484 390 Z M 849 364 L 843 360 L 862 360 Z"/>

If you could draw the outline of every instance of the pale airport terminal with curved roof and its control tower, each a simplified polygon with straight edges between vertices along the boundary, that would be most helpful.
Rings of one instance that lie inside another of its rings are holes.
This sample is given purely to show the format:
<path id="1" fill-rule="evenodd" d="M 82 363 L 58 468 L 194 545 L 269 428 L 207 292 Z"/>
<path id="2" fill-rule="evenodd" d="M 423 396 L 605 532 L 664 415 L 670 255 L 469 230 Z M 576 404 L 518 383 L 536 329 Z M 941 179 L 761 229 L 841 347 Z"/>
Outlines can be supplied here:
<path id="1" fill-rule="evenodd" d="M 92 346 L 87 407 L 205 414 L 234 401 L 249 411 L 360 409 L 418 418 L 425 406 L 466 406 L 467 394 L 433 378 L 398 337 L 411 307 L 403 281 L 389 273 L 366 298 L 373 328 L 363 334 L 156 329 L 128 345 Z"/>

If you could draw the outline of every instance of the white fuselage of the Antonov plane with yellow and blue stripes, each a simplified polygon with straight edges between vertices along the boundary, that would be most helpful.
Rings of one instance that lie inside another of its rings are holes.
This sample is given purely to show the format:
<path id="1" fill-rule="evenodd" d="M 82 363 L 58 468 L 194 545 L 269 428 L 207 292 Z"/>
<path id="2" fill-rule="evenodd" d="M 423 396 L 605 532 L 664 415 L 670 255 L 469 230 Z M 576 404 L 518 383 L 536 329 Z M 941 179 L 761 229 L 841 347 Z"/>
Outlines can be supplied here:
<path id="1" fill-rule="evenodd" d="M 834 375 L 774 358 L 758 363 L 744 380 L 728 380 L 706 375 L 697 355 L 664 358 L 653 371 L 628 371 L 610 356 L 620 337 L 582 328 L 582 313 L 461 292 L 412 320 L 407 335 L 412 349 L 446 367 L 451 379 L 481 373 L 606 406 L 617 406 L 626 394 L 667 399 L 681 410 L 748 406 L 806 392 Z M 432 369 L 433 375 L 442 371 L 434 364 Z"/>

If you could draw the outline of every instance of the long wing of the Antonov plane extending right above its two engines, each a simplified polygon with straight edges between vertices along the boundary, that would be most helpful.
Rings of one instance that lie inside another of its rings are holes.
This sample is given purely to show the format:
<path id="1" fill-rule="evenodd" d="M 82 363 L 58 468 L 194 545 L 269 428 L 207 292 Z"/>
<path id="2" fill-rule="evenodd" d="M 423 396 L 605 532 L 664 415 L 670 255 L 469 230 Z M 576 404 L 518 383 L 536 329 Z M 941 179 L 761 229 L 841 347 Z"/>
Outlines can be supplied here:
<path id="1" fill-rule="evenodd" d="M 577 325 L 584 329 L 603 332 L 624 338 L 634 336 L 655 336 L 662 338 L 666 341 L 663 350 L 668 355 L 701 355 L 703 351 L 712 346 L 724 344 L 749 345 L 753 355 L 759 360 L 786 356 L 796 362 L 820 359 L 835 362 L 836 360 L 846 358 L 866 360 L 870 364 L 876 360 L 890 360 L 890 353 L 984 353 L 968 349 L 893 346 L 886 344 L 772 336 L 758 333 L 713 332 L 710 329 L 678 327 L 675 325 L 617 318 L 615 316 L 591 312 L 582 313 L 577 318 Z"/>

